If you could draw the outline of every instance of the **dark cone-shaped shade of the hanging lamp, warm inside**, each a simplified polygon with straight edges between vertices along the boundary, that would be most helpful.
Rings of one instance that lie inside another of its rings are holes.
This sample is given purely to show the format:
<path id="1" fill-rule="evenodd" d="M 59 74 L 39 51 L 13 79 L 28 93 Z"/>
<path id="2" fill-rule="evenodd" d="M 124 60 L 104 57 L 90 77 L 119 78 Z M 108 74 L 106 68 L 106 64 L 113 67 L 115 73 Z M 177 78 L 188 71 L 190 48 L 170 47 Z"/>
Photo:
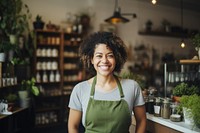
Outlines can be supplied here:
<path id="1" fill-rule="evenodd" d="M 117 8 L 114 11 L 113 16 L 105 19 L 105 22 L 108 22 L 108 23 L 111 23 L 111 24 L 126 23 L 126 22 L 129 22 L 129 19 L 122 17 L 122 15 L 120 13 L 120 8 Z"/>

